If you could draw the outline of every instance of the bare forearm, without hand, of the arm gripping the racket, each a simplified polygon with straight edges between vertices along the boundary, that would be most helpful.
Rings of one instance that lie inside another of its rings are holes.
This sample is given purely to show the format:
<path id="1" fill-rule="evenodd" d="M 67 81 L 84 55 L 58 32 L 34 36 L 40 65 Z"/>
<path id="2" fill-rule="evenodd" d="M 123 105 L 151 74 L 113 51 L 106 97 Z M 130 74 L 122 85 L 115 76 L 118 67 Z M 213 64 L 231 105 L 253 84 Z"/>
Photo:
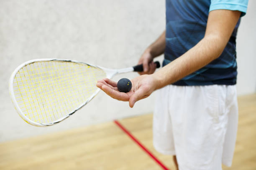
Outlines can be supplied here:
<path id="1" fill-rule="evenodd" d="M 148 50 L 153 57 L 157 57 L 164 53 L 165 49 L 165 30 L 158 37 L 158 39 L 153 42 L 146 50 Z"/>

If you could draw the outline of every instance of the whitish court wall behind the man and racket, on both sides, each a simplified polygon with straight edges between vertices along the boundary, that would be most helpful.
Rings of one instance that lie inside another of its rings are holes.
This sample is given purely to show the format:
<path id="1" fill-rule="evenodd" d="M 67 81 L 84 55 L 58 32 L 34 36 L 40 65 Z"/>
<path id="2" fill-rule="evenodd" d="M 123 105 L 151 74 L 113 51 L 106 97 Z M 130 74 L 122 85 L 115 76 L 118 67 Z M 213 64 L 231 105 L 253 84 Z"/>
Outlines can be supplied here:
<path id="1" fill-rule="evenodd" d="M 249 2 L 238 32 L 240 95 L 256 90 L 255 2 Z M 15 67 L 35 58 L 66 58 L 110 68 L 135 65 L 164 30 L 164 4 L 164 0 L 1 0 L 0 142 L 152 112 L 154 94 L 131 109 L 100 92 L 64 122 L 38 128 L 16 113 L 8 79 Z M 114 80 L 135 76 L 128 73 Z"/>

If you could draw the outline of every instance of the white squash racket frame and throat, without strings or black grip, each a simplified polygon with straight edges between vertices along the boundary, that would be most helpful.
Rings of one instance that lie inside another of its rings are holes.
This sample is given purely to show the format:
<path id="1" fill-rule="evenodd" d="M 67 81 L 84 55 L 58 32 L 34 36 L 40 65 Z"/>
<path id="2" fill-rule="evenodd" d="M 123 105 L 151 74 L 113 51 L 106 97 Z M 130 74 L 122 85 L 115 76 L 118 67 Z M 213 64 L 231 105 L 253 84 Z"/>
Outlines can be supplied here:
<path id="1" fill-rule="evenodd" d="M 60 62 L 74 62 L 74 63 L 79 63 L 79 64 L 84 64 L 84 65 L 90 65 L 92 67 L 97 67 L 101 70 L 103 70 L 106 75 L 107 78 L 111 79 L 114 75 L 118 74 L 118 73 L 125 73 L 125 72 L 133 72 L 134 69 L 133 67 L 127 67 L 127 68 L 123 68 L 123 69 L 109 69 L 109 68 L 105 68 L 105 67 L 100 67 L 97 65 L 92 65 L 92 64 L 88 64 L 85 62 L 80 62 L 80 61 L 76 61 L 76 60 L 67 60 L 67 59 L 51 59 L 51 58 L 44 58 L 44 59 L 35 59 L 35 60 L 29 60 L 27 62 L 24 62 L 23 64 L 19 65 L 11 74 L 10 76 L 10 80 L 9 80 L 9 92 L 10 92 L 10 97 L 13 101 L 14 107 L 17 110 L 18 114 L 20 115 L 20 117 L 26 121 L 27 123 L 34 125 L 34 126 L 38 126 L 38 127 L 46 127 L 46 126 L 50 126 L 50 125 L 54 125 L 58 122 L 61 122 L 62 120 L 67 119 L 67 117 L 69 117 L 70 115 L 72 115 L 74 112 L 76 112 L 77 110 L 81 109 L 84 105 L 86 105 L 88 102 L 90 102 L 93 97 L 95 97 L 97 95 L 97 93 L 100 91 L 100 89 L 97 89 L 85 102 L 83 102 L 79 107 L 77 107 L 76 109 L 74 109 L 71 113 L 65 115 L 64 117 L 59 118 L 58 120 L 52 122 L 52 123 L 38 123 L 38 122 L 34 122 L 30 119 L 28 119 L 28 117 L 25 116 L 25 114 L 22 112 L 22 110 L 20 109 L 18 102 L 15 98 L 14 95 L 14 91 L 13 91 L 13 80 L 15 75 L 17 74 L 17 72 L 22 68 L 25 67 L 28 64 L 31 64 L 33 62 L 41 62 L 41 61 L 60 61 Z"/>

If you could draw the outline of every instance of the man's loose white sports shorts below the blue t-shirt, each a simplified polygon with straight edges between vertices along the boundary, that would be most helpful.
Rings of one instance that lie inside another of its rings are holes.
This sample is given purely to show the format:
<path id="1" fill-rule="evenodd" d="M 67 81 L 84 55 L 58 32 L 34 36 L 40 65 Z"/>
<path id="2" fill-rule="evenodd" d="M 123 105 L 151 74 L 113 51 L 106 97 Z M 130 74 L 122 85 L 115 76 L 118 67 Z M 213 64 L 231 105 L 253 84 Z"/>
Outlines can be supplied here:
<path id="1" fill-rule="evenodd" d="M 238 126 L 236 85 L 168 85 L 157 92 L 155 149 L 176 155 L 179 170 L 231 166 Z"/>

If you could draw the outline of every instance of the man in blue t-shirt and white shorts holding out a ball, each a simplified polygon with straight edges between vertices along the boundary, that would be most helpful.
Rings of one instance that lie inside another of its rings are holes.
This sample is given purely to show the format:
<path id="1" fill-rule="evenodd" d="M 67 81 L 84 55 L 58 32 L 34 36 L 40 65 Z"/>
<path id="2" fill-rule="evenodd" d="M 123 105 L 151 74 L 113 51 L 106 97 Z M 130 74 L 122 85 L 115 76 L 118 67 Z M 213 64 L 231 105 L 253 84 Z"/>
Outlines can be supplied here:
<path id="1" fill-rule="evenodd" d="M 139 60 L 144 70 L 132 90 L 97 82 L 111 97 L 135 102 L 158 90 L 154 147 L 176 155 L 180 170 L 231 166 L 236 142 L 236 33 L 248 0 L 166 0 L 166 30 Z M 164 53 L 155 72 L 153 58 Z M 153 74 L 154 73 L 154 74 Z"/>

